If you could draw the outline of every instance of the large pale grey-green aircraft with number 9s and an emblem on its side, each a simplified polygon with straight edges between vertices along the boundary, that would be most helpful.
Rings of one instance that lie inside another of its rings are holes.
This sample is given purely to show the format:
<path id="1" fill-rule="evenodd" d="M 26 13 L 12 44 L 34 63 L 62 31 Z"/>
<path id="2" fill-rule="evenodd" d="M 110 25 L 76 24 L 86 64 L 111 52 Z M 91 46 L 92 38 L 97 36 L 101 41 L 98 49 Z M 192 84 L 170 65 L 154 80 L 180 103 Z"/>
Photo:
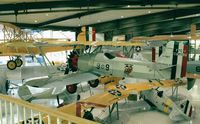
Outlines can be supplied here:
<path id="1" fill-rule="evenodd" d="M 186 74 L 187 52 L 188 47 L 183 42 L 168 42 L 156 63 L 119 58 L 109 53 L 90 53 L 79 57 L 73 55 L 70 68 L 77 70 L 76 73 L 29 80 L 22 87 L 27 87 L 28 90 L 31 87 L 47 88 L 40 94 L 51 97 L 63 92 L 75 93 L 77 84 L 84 81 L 88 81 L 91 87 L 97 87 L 100 76 L 180 79 Z M 33 99 L 34 94 L 27 92 L 19 93 L 20 97 L 25 100 Z"/>

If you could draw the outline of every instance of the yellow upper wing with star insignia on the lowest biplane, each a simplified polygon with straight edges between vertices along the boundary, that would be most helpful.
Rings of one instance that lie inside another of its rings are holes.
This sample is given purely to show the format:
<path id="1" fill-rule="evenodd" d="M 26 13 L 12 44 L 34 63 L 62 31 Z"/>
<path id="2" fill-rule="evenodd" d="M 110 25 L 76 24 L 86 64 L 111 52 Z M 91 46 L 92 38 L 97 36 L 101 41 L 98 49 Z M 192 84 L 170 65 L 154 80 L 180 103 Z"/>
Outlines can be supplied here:
<path id="1" fill-rule="evenodd" d="M 178 85 L 185 85 L 186 82 L 178 83 L 174 80 L 163 80 L 154 82 L 142 82 L 125 85 L 113 85 L 108 87 L 107 92 L 96 94 L 89 98 L 80 100 L 78 103 L 82 105 L 82 111 L 87 108 L 105 108 L 129 96 L 130 93 L 136 91 L 141 92 L 157 87 L 172 87 Z M 75 114 L 77 103 L 72 103 L 59 108 L 60 111 Z"/>

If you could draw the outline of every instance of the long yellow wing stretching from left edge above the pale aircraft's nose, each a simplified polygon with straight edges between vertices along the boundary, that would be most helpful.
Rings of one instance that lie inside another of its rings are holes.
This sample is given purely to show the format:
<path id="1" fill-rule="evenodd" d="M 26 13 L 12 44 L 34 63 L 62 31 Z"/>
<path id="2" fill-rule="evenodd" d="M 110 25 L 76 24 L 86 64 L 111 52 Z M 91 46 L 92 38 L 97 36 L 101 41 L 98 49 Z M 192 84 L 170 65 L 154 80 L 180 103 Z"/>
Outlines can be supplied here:
<path id="1" fill-rule="evenodd" d="M 143 43 L 131 42 L 105 42 L 105 41 L 88 41 L 88 42 L 70 42 L 51 40 L 50 42 L 5 42 L 0 43 L 0 55 L 18 55 L 18 54 L 40 54 L 42 52 L 58 52 L 72 49 L 80 49 L 83 46 L 143 46 Z M 8 54 L 9 53 L 9 54 Z"/>

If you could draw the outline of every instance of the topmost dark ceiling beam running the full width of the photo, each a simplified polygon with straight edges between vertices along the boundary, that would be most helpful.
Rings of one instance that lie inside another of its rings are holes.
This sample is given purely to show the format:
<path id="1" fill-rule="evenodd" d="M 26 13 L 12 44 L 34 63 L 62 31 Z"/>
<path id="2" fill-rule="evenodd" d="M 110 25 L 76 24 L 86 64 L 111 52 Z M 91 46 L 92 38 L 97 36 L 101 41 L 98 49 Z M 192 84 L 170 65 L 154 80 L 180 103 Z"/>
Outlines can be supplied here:
<path id="1" fill-rule="evenodd" d="M 60 0 L 40 2 L 19 2 L 0 4 L 0 11 L 29 10 L 29 9 L 52 9 L 63 7 L 109 7 L 126 5 L 179 5 L 197 4 L 199 0 Z"/>

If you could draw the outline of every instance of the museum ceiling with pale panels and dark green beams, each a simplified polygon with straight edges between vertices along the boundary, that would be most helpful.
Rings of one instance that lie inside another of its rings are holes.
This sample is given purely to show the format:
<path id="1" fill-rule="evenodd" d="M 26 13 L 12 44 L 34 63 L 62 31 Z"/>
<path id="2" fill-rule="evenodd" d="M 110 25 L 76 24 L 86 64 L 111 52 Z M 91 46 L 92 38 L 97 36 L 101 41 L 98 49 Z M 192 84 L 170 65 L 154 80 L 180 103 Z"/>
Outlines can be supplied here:
<path id="1" fill-rule="evenodd" d="M 1 0 L 0 21 L 21 28 L 79 31 L 83 25 L 111 35 L 186 33 L 200 26 L 198 0 Z"/>

